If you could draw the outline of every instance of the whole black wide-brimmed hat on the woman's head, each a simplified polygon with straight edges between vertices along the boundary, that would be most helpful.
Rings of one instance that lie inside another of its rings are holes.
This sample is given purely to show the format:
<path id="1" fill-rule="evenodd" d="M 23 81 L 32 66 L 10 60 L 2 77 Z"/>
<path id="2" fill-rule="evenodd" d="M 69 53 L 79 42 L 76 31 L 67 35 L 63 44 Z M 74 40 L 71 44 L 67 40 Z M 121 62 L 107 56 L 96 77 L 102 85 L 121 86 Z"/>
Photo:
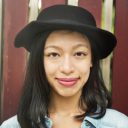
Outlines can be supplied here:
<path id="1" fill-rule="evenodd" d="M 43 36 L 46 31 L 61 29 L 79 31 L 87 35 L 100 59 L 108 56 L 117 42 L 112 33 L 96 27 L 93 15 L 86 9 L 71 5 L 54 5 L 43 9 L 37 20 L 30 22 L 17 34 L 15 46 L 31 51 L 31 45 L 39 34 Z"/>

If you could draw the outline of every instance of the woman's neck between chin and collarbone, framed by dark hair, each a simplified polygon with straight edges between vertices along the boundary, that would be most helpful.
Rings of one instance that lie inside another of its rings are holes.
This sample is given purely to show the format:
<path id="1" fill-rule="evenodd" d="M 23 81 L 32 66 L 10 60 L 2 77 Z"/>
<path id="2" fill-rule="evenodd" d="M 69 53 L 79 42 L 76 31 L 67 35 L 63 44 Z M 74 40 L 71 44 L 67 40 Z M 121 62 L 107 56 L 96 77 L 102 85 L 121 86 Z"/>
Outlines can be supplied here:
<path id="1" fill-rule="evenodd" d="M 49 113 L 71 116 L 81 113 L 79 108 L 80 96 L 81 93 L 70 97 L 64 97 L 52 93 L 49 104 Z"/>

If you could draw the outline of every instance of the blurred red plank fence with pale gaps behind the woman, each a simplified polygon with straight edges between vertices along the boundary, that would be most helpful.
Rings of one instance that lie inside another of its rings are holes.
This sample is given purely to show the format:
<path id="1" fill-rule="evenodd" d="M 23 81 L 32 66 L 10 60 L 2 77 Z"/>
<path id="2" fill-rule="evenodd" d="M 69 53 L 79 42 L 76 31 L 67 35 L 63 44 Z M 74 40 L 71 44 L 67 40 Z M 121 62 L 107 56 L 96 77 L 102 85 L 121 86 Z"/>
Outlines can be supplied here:
<path id="1" fill-rule="evenodd" d="M 16 33 L 55 4 L 88 9 L 97 26 L 117 37 L 114 52 L 101 61 L 112 108 L 128 115 L 128 0 L 0 0 L 0 122 L 17 112 L 28 53 L 13 45 Z"/>

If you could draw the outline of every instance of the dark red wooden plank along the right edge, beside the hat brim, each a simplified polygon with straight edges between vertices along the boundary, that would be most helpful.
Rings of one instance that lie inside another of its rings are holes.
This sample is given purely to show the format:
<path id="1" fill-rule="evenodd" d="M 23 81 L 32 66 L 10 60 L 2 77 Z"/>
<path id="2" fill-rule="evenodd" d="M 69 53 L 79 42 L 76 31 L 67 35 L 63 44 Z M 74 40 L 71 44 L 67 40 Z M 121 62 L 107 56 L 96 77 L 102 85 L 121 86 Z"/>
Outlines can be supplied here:
<path id="1" fill-rule="evenodd" d="M 113 108 L 128 115 L 128 0 L 116 0 L 115 6 L 118 45 L 113 60 Z"/>

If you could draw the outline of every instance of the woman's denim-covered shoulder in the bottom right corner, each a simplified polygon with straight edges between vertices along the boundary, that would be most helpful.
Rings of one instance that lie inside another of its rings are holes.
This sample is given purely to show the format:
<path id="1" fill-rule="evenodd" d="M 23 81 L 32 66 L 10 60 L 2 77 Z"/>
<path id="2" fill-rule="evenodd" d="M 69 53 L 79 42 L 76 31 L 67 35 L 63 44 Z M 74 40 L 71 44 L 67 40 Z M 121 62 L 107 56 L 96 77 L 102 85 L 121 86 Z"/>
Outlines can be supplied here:
<path id="1" fill-rule="evenodd" d="M 106 114 L 103 118 L 101 118 L 101 121 L 104 124 L 109 124 L 110 126 L 114 126 L 116 128 L 128 127 L 128 117 L 114 109 L 107 109 Z"/>

